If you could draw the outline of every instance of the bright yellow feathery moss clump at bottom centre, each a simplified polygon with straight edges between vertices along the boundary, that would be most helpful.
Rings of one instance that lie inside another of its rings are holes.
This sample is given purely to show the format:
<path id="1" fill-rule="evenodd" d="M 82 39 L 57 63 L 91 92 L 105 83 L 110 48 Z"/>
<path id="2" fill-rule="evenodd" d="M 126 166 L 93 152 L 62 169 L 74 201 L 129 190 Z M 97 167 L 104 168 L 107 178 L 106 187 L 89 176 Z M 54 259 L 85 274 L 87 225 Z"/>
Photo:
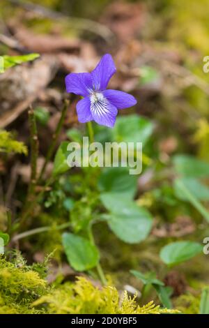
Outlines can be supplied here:
<path id="1" fill-rule="evenodd" d="M 137 305 L 135 297 L 128 297 L 124 292 L 120 299 L 116 288 L 107 286 L 96 288 L 84 277 L 77 278 L 76 283 L 65 283 L 49 295 L 40 297 L 34 306 L 47 304 L 49 313 L 55 314 L 160 314 L 176 313 L 155 306 L 153 301 L 145 306 Z"/>

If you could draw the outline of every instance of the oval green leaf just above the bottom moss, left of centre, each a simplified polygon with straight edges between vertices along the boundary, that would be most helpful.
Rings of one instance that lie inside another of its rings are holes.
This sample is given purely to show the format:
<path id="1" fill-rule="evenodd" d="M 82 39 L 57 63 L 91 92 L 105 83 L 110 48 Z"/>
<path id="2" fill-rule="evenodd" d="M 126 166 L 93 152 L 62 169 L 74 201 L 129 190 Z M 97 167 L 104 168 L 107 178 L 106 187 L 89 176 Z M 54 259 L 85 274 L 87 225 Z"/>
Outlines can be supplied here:
<path id="1" fill-rule="evenodd" d="M 86 271 L 98 264 L 100 260 L 98 248 L 88 239 L 65 232 L 62 240 L 68 262 L 73 269 Z"/>

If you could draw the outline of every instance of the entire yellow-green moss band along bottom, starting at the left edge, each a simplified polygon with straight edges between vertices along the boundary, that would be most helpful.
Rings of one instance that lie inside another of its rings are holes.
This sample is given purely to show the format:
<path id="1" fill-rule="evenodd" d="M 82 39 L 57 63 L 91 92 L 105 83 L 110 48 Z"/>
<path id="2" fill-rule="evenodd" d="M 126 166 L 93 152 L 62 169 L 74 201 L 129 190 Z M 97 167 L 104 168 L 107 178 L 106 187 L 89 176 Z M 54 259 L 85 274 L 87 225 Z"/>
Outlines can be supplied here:
<path id="1" fill-rule="evenodd" d="M 43 267 L 43 268 L 42 268 Z M 13 262 L 0 258 L 0 314 L 157 314 L 178 311 L 162 309 L 153 301 L 139 306 L 135 297 L 116 288 L 97 288 L 84 277 L 75 283 L 50 287 L 44 278 L 45 264 L 26 265 L 20 255 Z"/>

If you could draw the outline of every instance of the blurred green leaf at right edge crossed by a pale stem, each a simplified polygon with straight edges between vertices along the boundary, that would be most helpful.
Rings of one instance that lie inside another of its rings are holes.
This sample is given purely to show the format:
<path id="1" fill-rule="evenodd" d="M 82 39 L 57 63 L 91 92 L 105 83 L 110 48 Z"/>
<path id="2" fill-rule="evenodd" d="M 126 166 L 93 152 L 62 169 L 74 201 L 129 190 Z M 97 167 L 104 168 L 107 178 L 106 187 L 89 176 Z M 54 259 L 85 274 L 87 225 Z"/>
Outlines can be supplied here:
<path id="1" fill-rule="evenodd" d="M 209 188 L 194 178 L 182 178 L 174 181 L 174 191 L 180 200 L 189 201 L 187 195 L 183 193 L 182 188 L 179 188 L 180 183 L 183 184 L 185 188 L 189 190 L 189 193 L 192 193 L 197 200 L 209 200 Z"/>

